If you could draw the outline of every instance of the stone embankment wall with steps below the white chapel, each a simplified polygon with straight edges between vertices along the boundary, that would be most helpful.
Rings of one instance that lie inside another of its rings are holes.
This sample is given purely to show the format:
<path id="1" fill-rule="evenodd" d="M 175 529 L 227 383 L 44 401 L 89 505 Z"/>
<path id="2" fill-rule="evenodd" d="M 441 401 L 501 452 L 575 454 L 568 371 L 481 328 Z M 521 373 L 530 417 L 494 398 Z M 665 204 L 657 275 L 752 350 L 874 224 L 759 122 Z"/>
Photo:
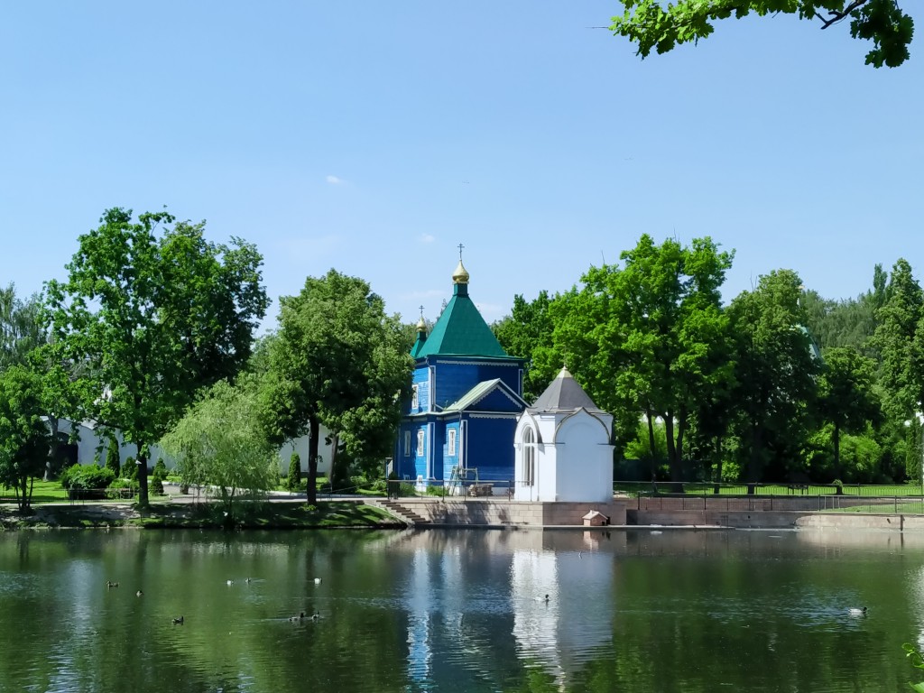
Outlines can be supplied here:
<path id="1" fill-rule="evenodd" d="M 434 525 L 510 527 L 583 526 L 583 517 L 597 510 L 611 525 L 626 524 L 626 501 L 609 503 L 529 503 L 490 499 L 400 498 L 400 505 Z"/>

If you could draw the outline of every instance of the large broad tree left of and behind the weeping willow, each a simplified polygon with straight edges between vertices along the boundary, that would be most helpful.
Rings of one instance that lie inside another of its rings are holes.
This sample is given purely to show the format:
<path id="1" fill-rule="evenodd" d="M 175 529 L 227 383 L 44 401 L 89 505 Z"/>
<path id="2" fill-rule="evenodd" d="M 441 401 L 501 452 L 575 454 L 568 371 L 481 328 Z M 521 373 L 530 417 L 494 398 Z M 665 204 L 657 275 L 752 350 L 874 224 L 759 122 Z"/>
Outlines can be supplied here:
<path id="1" fill-rule="evenodd" d="M 204 222 L 174 224 L 169 213 L 136 221 L 116 208 L 100 222 L 79 237 L 67 281 L 48 283 L 47 310 L 57 348 L 88 365 L 88 409 L 136 445 L 147 505 L 150 444 L 249 358 L 269 303 L 262 258 L 239 238 L 208 242 Z"/>

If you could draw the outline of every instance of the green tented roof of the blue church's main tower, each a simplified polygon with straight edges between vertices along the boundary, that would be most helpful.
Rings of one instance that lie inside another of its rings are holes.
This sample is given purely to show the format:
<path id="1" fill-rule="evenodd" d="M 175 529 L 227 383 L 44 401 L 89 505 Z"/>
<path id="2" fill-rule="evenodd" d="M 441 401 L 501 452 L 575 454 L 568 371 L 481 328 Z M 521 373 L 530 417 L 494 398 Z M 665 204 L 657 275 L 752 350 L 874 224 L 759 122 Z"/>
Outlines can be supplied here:
<path id="1" fill-rule="evenodd" d="M 420 359 L 450 354 L 509 358 L 468 298 L 468 285 L 465 284 L 456 284 L 453 298 L 449 299 L 440 319 L 433 325 L 432 333 L 414 356 Z"/>

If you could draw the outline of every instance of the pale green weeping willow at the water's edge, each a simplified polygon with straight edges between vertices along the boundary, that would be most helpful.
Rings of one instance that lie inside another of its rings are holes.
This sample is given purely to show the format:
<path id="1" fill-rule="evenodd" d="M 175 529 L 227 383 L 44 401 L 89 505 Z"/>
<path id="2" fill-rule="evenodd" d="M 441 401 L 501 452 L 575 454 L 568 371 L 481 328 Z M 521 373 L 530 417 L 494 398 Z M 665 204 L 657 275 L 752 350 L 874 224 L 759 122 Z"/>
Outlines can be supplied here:
<path id="1" fill-rule="evenodd" d="M 258 407 L 254 383 L 219 381 L 161 439 L 181 483 L 214 489 L 228 522 L 241 493 L 269 491 L 279 479 L 276 449 L 264 435 Z"/>

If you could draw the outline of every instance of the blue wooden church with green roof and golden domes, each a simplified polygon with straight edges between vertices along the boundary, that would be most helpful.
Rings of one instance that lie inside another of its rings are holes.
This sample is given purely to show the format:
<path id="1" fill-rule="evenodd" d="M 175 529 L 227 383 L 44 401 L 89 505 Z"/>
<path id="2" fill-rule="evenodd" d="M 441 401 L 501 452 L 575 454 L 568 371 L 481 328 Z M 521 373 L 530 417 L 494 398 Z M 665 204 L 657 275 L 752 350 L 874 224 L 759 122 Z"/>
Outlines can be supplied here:
<path id="1" fill-rule="evenodd" d="M 514 432 L 523 401 L 523 359 L 507 355 L 468 297 L 459 260 L 453 297 L 431 334 L 421 316 L 412 395 L 395 450 L 399 479 L 420 490 L 463 492 L 476 480 L 494 492 L 513 486 Z"/>

